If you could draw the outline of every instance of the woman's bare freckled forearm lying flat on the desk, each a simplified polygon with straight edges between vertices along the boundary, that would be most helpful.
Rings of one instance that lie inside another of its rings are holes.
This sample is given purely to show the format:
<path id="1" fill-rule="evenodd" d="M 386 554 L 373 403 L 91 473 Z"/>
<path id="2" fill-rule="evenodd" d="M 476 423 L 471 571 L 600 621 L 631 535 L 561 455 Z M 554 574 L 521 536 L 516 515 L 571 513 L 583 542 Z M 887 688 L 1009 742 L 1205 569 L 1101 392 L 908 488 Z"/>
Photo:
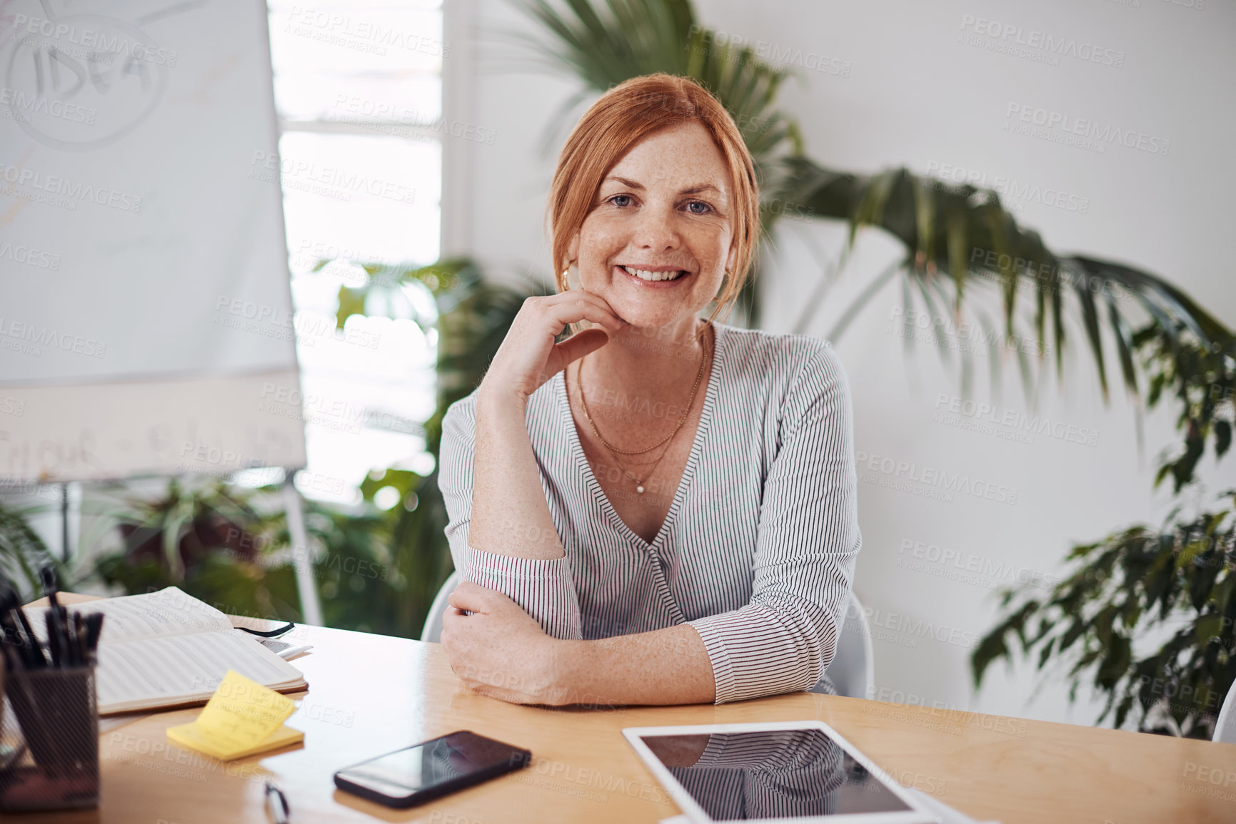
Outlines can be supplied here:
<path id="1" fill-rule="evenodd" d="M 559 687 L 567 703 L 711 704 L 716 700 L 708 650 L 690 624 L 555 644 Z"/>

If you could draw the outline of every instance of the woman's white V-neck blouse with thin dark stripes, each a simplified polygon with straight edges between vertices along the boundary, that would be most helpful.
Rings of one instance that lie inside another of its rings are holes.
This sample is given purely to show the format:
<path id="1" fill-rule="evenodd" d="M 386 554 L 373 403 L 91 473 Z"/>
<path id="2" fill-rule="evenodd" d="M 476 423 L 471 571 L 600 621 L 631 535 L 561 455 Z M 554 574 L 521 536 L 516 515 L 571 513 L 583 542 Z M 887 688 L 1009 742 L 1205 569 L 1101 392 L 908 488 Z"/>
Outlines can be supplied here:
<path id="1" fill-rule="evenodd" d="M 849 385 L 827 341 L 714 324 L 703 410 L 651 544 L 592 474 L 560 372 L 529 398 L 528 434 L 566 556 L 468 546 L 476 393 L 442 421 L 439 486 L 455 568 L 560 639 L 691 624 L 716 703 L 832 692 L 824 668 L 861 546 Z"/>

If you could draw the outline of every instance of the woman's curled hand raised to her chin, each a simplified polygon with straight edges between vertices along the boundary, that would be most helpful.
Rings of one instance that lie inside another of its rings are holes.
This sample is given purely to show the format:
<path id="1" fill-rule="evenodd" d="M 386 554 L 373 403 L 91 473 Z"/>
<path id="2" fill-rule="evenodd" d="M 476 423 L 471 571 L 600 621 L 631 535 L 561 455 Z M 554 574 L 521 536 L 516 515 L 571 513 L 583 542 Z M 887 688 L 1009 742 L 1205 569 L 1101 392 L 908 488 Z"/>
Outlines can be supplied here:
<path id="1" fill-rule="evenodd" d="M 554 342 L 567 324 L 581 320 L 598 324 L 599 329 L 586 329 L 561 343 Z M 481 382 L 480 395 L 522 408 L 543 383 L 571 361 L 608 343 L 609 332 L 617 332 L 625 325 L 608 303 L 588 292 L 528 298 L 493 356 L 493 363 Z"/>

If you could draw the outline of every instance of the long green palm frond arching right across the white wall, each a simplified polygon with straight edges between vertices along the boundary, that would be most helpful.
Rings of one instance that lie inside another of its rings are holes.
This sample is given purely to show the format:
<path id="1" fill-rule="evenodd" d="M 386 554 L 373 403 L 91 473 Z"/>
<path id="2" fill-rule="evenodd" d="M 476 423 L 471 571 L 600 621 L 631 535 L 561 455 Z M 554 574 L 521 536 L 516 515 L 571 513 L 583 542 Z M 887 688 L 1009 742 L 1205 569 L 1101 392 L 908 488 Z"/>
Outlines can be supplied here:
<path id="1" fill-rule="evenodd" d="M 1232 334 L 1193 299 L 1142 269 L 1085 254 L 1057 254 L 1038 232 L 1022 227 L 995 191 L 948 184 L 899 168 L 870 175 L 836 172 L 806 157 L 781 162 L 777 196 L 800 204 L 816 217 L 849 224 L 848 245 L 858 231 L 875 227 L 892 235 L 905 250 L 902 264 L 913 279 L 948 283 L 950 311 L 959 316 L 971 285 L 999 290 L 1004 335 L 1020 337 L 1016 310 L 1030 304 L 1036 348 L 1052 352 L 1062 368 L 1065 320 L 1077 316 L 1094 358 L 1099 384 L 1109 392 L 1105 331 L 1115 341 L 1112 357 L 1126 389 L 1138 394 L 1135 325 L 1163 330 L 1173 351 L 1182 341 L 1203 348 L 1230 350 Z M 1018 301 L 1021 294 L 1028 294 Z M 818 305 L 808 301 L 798 330 Z M 858 301 L 843 317 L 861 309 Z"/>

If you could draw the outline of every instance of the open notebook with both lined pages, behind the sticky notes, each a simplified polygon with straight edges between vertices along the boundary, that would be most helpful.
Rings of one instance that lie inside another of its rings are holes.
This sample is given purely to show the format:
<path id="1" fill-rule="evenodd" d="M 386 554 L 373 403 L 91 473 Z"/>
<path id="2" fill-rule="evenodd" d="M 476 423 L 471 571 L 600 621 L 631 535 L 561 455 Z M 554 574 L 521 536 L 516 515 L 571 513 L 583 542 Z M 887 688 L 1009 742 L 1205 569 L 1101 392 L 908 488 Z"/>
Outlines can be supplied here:
<path id="1" fill-rule="evenodd" d="M 100 715 L 204 703 L 229 670 L 278 692 L 309 686 L 299 670 L 232 629 L 221 612 L 176 587 L 67 607 L 106 615 L 96 671 Z M 47 608 L 25 609 L 46 641 Z"/>

